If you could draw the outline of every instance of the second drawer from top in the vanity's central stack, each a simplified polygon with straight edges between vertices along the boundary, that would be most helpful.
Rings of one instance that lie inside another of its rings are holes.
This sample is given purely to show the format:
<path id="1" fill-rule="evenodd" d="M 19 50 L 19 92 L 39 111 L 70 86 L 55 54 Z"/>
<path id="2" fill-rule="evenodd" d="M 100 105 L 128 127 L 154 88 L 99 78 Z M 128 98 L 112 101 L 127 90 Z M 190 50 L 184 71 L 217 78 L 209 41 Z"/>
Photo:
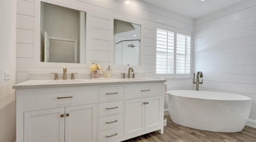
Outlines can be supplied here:
<path id="1" fill-rule="evenodd" d="M 98 109 L 99 116 L 122 113 L 124 112 L 124 101 L 99 103 Z"/>

